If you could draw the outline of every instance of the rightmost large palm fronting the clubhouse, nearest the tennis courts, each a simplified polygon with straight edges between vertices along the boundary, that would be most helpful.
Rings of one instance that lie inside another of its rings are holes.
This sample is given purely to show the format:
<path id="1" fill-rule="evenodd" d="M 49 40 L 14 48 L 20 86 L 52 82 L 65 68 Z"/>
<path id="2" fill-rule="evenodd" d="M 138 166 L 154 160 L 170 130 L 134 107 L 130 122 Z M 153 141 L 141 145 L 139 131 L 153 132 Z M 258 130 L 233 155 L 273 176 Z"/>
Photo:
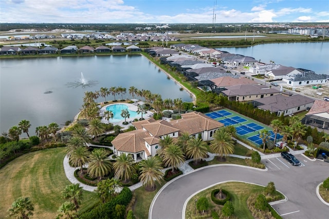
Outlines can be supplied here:
<path id="1" fill-rule="evenodd" d="M 217 130 L 214 139 L 210 143 L 210 149 L 213 153 L 218 154 L 218 159 L 223 159 L 234 152 L 234 142 L 225 129 Z"/>

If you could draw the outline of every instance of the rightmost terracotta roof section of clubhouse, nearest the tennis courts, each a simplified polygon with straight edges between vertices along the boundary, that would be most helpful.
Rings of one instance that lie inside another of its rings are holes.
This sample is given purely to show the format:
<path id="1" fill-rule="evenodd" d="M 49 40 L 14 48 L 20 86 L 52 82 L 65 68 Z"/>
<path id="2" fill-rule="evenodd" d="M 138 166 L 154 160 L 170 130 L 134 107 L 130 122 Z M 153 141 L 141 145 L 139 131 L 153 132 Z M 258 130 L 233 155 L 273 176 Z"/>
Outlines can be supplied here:
<path id="1" fill-rule="evenodd" d="M 182 119 L 172 120 L 170 123 L 180 132 L 188 132 L 190 135 L 224 126 L 223 123 L 199 112 L 182 114 L 181 117 Z"/>

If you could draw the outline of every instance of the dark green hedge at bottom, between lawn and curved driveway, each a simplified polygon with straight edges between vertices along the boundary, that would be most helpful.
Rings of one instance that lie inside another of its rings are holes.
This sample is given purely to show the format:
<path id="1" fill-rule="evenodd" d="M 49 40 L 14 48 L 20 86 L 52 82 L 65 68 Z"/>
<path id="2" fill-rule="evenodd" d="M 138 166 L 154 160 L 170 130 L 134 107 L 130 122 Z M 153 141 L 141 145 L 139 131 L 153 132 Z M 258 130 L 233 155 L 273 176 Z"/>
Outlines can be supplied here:
<path id="1" fill-rule="evenodd" d="M 109 200 L 107 203 L 102 203 L 88 212 L 84 212 L 80 215 L 81 219 L 98 219 L 98 218 L 118 218 L 115 212 L 117 205 L 127 206 L 133 197 L 132 191 L 129 188 L 124 187 L 122 191 Z"/>

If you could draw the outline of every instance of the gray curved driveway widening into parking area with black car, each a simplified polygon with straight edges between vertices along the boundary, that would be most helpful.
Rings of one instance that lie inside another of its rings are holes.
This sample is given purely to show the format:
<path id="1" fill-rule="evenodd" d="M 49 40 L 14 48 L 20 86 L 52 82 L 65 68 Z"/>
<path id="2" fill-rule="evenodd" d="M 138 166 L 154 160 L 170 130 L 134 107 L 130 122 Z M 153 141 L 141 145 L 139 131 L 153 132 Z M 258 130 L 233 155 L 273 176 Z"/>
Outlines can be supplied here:
<path id="1" fill-rule="evenodd" d="M 273 207 L 283 218 L 329 218 L 329 208 L 320 202 L 316 187 L 328 177 L 329 165 L 308 161 L 304 167 L 260 171 L 236 166 L 209 166 L 167 184 L 153 199 L 149 218 L 178 219 L 185 201 L 193 193 L 221 181 L 237 180 L 266 186 L 275 182 L 288 201 Z"/>

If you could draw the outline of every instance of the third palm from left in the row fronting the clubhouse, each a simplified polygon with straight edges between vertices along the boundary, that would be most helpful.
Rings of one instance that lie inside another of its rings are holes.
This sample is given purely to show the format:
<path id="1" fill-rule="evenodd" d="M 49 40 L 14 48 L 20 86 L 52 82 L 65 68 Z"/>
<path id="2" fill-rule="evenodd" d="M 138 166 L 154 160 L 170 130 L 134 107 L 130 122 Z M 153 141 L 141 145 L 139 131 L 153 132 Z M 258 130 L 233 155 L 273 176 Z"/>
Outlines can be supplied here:
<path id="1" fill-rule="evenodd" d="M 115 177 L 124 179 L 123 182 L 127 182 L 136 172 L 133 164 L 134 159 L 131 154 L 123 153 L 118 156 L 116 162 L 113 165 L 115 170 Z"/>

